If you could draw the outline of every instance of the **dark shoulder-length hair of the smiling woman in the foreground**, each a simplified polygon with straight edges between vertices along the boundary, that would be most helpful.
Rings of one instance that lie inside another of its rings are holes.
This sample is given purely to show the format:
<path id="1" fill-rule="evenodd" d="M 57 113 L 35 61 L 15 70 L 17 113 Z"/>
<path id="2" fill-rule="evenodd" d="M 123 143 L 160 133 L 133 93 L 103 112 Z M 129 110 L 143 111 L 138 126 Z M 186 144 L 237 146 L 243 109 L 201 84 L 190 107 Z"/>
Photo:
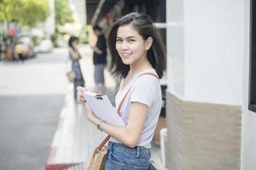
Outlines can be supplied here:
<path id="1" fill-rule="evenodd" d="M 113 26 L 108 34 L 108 47 L 111 54 L 109 70 L 119 77 L 126 77 L 130 70 L 130 66 L 125 65 L 122 62 L 122 59 L 115 48 L 119 26 L 130 24 L 137 30 L 144 40 L 146 40 L 148 37 L 153 38 L 152 46 L 147 52 L 148 61 L 155 69 L 158 77 L 163 77 L 164 71 L 166 70 L 165 45 L 160 38 L 159 31 L 157 30 L 156 26 L 154 26 L 153 20 L 151 20 L 147 14 L 126 14 L 113 23 Z"/>

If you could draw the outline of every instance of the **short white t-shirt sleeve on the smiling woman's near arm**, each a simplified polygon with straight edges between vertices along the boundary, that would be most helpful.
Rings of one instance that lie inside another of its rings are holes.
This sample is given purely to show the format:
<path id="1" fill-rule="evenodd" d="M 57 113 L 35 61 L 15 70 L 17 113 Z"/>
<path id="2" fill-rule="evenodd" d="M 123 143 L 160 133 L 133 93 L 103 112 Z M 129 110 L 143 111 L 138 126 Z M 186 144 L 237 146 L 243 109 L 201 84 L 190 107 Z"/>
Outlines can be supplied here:
<path id="1" fill-rule="evenodd" d="M 131 89 L 131 102 L 140 102 L 150 107 L 156 98 L 156 82 L 158 80 L 152 76 L 139 77 Z"/>

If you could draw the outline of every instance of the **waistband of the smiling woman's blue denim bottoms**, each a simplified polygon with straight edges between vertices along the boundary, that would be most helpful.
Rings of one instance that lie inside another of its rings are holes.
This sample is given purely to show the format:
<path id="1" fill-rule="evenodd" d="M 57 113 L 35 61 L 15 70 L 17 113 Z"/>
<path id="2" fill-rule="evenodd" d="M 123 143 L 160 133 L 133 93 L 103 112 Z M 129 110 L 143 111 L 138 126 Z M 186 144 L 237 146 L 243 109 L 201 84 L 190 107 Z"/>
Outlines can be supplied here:
<path id="1" fill-rule="evenodd" d="M 115 142 L 111 142 L 109 141 L 108 142 L 108 150 L 116 150 L 116 151 L 121 151 L 121 152 L 130 152 L 130 153 L 133 153 L 133 154 L 137 154 L 137 157 L 140 156 L 140 154 L 146 154 L 150 156 L 150 149 L 148 148 L 145 148 L 143 146 L 136 146 L 134 148 L 130 148 L 128 146 L 126 146 L 125 144 L 121 144 L 121 143 L 115 143 Z"/>

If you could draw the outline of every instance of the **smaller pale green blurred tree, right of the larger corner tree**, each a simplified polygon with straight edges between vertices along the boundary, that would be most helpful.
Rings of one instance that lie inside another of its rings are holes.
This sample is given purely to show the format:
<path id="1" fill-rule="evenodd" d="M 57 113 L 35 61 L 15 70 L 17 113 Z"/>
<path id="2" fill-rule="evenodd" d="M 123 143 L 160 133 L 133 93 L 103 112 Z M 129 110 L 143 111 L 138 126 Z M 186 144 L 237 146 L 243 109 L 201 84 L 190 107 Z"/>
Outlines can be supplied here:
<path id="1" fill-rule="evenodd" d="M 55 27 L 73 22 L 73 12 L 68 8 L 68 0 L 55 0 Z"/>

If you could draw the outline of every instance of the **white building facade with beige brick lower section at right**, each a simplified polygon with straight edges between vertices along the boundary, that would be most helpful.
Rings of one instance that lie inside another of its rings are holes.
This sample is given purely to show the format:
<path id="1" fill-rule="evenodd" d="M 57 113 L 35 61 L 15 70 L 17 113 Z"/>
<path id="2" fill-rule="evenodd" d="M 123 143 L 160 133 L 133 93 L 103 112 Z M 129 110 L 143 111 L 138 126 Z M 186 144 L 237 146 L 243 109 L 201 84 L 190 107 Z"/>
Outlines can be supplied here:
<path id="1" fill-rule="evenodd" d="M 256 169 L 250 1 L 166 1 L 170 170 Z"/>

